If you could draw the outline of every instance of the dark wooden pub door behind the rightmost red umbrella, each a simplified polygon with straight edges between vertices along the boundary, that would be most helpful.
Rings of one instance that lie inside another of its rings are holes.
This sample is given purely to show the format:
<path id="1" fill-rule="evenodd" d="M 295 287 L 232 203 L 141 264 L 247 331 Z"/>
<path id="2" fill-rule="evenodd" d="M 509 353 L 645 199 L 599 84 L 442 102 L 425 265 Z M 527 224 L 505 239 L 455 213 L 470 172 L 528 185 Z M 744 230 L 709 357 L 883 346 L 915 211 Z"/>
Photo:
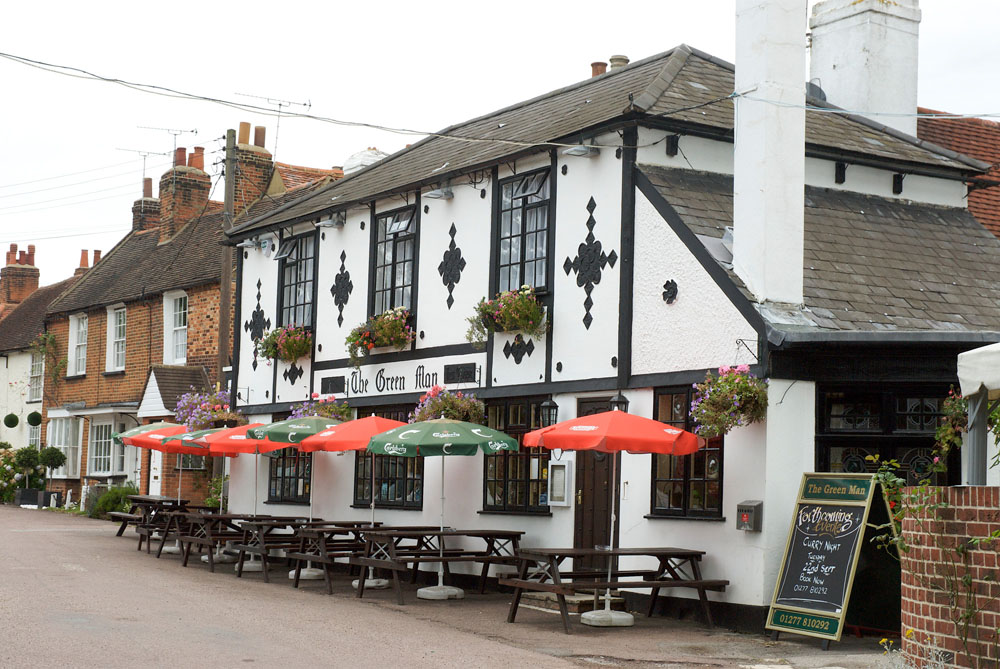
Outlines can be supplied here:
<path id="1" fill-rule="evenodd" d="M 577 416 L 607 411 L 608 398 L 577 401 Z M 573 546 L 593 548 L 611 545 L 610 491 L 611 454 L 579 451 L 576 454 L 576 524 Z M 574 568 L 603 568 L 603 560 L 576 560 Z"/>

